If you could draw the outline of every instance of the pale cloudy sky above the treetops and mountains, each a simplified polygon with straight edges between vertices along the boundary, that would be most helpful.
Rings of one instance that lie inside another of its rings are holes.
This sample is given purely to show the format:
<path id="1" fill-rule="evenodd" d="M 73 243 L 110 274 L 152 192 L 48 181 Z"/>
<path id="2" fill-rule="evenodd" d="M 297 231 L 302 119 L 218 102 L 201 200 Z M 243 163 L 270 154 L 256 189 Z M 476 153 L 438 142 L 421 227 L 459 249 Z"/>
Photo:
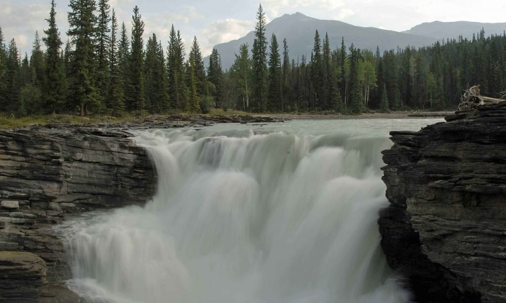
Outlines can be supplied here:
<path id="1" fill-rule="evenodd" d="M 66 41 L 69 0 L 57 1 L 57 23 Z M 259 5 L 247 0 L 110 0 L 119 23 L 130 28 L 132 9 L 138 5 L 145 36 L 156 33 L 164 45 L 171 24 L 181 30 L 189 47 L 197 36 L 204 55 L 212 47 L 244 36 L 254 28 Z M 301 12 L 319 18 L 340 20 L 358 26 L 402 31 L 431 21 L 506 22 L 504 0 L 264 0 L 268 20 Z M 0 0 L 0 27 L 6 40 L 13 37 L 23 52 L 29 52 L 36 30 L 46 27 L 50 0 Z"/>

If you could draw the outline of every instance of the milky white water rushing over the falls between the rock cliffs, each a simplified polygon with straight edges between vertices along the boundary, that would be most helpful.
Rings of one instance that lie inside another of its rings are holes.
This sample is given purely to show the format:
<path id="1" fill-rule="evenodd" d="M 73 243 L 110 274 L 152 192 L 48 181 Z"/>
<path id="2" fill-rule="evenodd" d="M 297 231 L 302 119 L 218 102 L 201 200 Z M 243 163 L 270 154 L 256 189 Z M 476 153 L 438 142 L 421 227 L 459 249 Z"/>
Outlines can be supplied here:
<path id="1" fill-rule="evenodd" d="M 434 120 L 139 131 L 146 207 L 68 221 L 71 287 L 97 302 L 404 303 L 376 220 L 388 131 Z"/>

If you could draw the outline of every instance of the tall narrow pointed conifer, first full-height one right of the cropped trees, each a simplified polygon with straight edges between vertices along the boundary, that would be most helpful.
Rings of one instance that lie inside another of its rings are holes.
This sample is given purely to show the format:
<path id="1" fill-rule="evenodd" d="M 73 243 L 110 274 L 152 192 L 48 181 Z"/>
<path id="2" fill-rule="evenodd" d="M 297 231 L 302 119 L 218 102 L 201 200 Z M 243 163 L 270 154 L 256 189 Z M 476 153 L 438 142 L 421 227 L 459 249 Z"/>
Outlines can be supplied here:
<path id="1" fill-rule="evenodd" d="M 145 105 L 145 75 L 144 75 L 144 21 L 139 8 L 134 8 L 132 16 L 132 47 L 129 57 L 129 77 L 125 90 L 126 108 L 130 111 L 142 111 Z"/>

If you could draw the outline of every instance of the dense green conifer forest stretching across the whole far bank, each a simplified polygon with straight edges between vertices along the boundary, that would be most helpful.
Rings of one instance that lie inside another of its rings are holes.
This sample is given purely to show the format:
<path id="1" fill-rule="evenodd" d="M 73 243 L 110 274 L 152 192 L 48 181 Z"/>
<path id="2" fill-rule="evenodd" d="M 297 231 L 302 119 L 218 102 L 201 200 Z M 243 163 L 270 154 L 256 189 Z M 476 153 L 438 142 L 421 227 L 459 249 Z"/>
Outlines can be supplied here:
<path id="1" fill-rule="evenodd" d="M 455 109 L 462 91 L 506 89 L 506 34 L 447 39 L 415 49 L 379 52 L 330 41 L 315 29 L 310 58 L 290 55 L 290 41 L 265 33 L 262 6 L 255 42 L 237 49 L 229 70 L 213 49 L 204 66 L 199 43 L 185 46 L 173 26 L 168 37 L 144 41 L 133 10 L 132 30 L 108 0 L 70 0 L 66 33 L 51 2 L 47 29 L 35 33 L 30 57 L 0 28 L 0 112 L 23 117 L 52 113 L 120 116 L 207 113 L 213 107 L 247 112 L 388 112 Z M 168 39 L 166 49 L 161 40 Z M 45 46 L 45 47 L 44 47 Z M 189 49 L 188 56 L 186 49 Z"/>

